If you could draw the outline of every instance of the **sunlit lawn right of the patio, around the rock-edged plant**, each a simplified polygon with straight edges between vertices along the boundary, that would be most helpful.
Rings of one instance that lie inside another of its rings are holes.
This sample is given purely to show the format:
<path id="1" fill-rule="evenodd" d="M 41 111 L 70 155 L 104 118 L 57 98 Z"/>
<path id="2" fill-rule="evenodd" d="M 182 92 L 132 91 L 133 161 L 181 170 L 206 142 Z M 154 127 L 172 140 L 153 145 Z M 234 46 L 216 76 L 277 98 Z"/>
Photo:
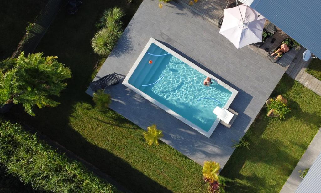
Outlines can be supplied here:
<path id="1" fill-rule="evenodd" d="M 279 94 L 291 112 L 285 119 L 269 118 L 263 107 L 245 134 L 250 150 L 235 150 L 221 171 L 230 180 L 227 192 L 278 193 L 321 126 L 319 95 L 287 75 L 272 96 Z"/>

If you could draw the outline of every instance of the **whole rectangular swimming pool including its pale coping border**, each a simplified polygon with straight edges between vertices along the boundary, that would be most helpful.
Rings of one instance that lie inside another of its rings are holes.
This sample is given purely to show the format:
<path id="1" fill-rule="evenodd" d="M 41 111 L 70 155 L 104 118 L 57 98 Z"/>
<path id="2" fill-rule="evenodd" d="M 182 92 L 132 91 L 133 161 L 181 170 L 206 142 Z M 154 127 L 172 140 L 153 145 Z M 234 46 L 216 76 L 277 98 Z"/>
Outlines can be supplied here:
<path id="1" fill-rule="evenodd" d="M 203 85 L 207 76 L 210 86 Z M 228 109 L 238 93 L 153 38 L 123 84 L 207 137 L 220 121 L 213 109 Z"/>

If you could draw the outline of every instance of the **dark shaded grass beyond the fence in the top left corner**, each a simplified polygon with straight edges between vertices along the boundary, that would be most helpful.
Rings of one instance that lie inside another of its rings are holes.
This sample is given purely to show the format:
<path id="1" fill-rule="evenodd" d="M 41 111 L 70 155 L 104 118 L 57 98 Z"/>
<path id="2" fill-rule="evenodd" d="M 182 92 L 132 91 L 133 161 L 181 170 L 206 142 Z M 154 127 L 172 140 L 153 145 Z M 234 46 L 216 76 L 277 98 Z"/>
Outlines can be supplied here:
<path id="1" fill-rule="evenodd" d="M 21 41 L 28 22 L 34 22 L 47 0 L 4 0 L 0 6 L 0 60 L 8 58 Z"/>

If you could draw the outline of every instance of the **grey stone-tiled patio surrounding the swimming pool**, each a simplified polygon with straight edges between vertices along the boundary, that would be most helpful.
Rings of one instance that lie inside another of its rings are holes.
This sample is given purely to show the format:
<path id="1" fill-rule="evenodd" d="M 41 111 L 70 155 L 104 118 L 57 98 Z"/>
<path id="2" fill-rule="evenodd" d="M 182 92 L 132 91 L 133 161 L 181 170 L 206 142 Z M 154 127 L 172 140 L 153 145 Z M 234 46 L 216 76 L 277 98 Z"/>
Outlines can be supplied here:
<path id="1" fill-rule="evenodd" d="M 234 151 L 231 140 L 246 133 L 285 69 L 249 47 L 237 50 L 218 31 L 184 6 L 167 3 L 160 9 L 158 1 L 144 0 L 94 80 L 113 72 L 125 77 L 153 37 L 239 91 L 230 106 L 239 113 L 232 127 L 219 124 L 207 138 L 123 84 L 106 89 L 113 98 L 111 109 L 143 129 L 156 124 L 164 133 L 162 141 L 200 165 L 213 160 L 223 168 Z"/>

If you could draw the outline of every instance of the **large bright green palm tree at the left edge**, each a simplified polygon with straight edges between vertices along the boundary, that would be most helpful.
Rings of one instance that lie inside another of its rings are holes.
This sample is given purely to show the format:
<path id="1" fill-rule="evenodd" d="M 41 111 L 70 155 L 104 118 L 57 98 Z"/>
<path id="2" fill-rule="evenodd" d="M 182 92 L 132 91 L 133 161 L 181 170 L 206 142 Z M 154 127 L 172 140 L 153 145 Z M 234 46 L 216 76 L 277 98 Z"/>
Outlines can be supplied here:
<path id="1" fill-rule="evenodd" d="M 59 63 L 56 56 L 43 57 L 43 53 L 22 52 L 17 59 L 0 62 L 0 106 L 22 103 L 25 111 L 35 116 L 32 107 L 56 107 L 59 102 L 50 95 L 59 96 L 71 77 L 69 68 Z"/>

